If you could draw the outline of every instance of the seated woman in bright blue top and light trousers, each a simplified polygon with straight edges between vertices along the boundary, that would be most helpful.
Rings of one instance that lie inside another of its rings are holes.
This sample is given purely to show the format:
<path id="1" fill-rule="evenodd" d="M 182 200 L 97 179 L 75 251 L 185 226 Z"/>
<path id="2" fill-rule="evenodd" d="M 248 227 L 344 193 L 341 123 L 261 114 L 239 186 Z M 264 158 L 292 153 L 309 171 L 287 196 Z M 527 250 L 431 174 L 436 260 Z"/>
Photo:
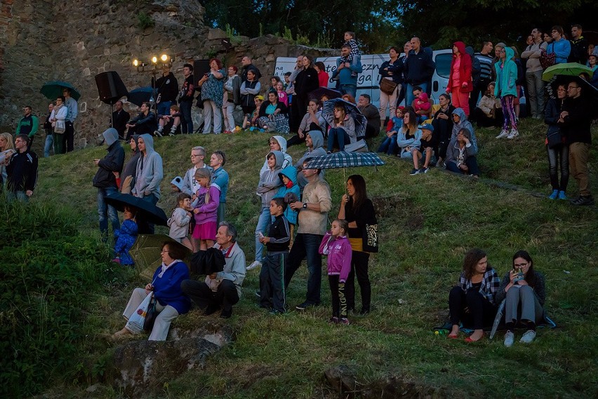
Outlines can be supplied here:
<path id="1" fill-rule="evenodd" d="M 162 264 L 156 269 L 152 282 L 145 288 L 133 289 L 123 312 L 123 317 L 128 320 L 147 295 L 154 292 L 156 312 L 159 314 L 148 338 L 149 341 L 166 341 L 171 322 L 178 318 L 178 315 L 187 313 L 191 305 L 189 298 L 180 289 L 180 283 L 189 278 L 189 268 L 181 261 L 185 258 L 184 249 L 165 242 L 162 245 L 161 257 Z M 113 337 L 119 338 L 128 334 L 133 334 L 133 331 L 125 326 L 119 332 L 115 332 Z"/>

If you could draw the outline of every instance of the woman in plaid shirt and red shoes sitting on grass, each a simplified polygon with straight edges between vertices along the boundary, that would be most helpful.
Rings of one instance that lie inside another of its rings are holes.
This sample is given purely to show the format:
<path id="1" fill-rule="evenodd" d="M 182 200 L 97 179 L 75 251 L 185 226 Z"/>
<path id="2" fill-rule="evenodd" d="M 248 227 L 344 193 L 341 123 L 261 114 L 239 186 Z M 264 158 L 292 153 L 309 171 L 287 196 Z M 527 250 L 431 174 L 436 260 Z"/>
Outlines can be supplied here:
<path id="1" fill-rule="evenodd" d="M 488 264 L 488 256 L 481 249 L 470 249 L 465 254 L 463 272 L 459 285 L 449 294 L 451 317 L 450 339 L 459 336 L 459 322 L 464 327 L 473 327 L 474 333 L 465 342 L 479 341 L 484 336 L 484 326 L 492 325 L 496 315 L 496 292 L 500 278 Z"/>

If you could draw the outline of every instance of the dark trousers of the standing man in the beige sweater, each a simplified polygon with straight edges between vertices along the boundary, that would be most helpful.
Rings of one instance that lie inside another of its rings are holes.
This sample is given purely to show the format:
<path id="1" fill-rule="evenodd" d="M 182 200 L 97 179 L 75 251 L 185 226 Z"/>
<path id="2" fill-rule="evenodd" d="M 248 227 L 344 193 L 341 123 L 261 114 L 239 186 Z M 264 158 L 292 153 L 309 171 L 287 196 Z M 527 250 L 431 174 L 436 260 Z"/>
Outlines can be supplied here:
<path id="1" fill-rule="evenodd" d="M 305 302 L 310 305 L 319 305 L 322 284 L 322 257 L 318 252 L 323 235 L 300 233 L 295 237 L 295 242 L 288 254 L 288 262 L 284 270 L 284 287 L 288 287 L 293 274 L 301 266 L 301 261 L 307 258 L 307 295 Z"/>

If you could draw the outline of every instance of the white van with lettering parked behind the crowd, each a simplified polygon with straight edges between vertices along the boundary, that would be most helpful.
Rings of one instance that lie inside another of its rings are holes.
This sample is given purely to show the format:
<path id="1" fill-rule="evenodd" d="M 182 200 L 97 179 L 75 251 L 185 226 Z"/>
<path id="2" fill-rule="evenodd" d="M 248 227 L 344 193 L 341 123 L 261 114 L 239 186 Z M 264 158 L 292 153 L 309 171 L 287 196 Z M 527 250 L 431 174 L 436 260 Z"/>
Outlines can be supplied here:
<path id="1" fill-rule="evenodd" d="M 401 54 L 404 55 L 404 54 Z M 432 100 L 438 103 L 438 97 L 445 93 L 446 86 L 449 84 L 449 74 L 451 72 L 451 60 L 453 52 L 451 49 L 436 50 L 432 53 L 432 59 L 436 63 L 436 70 L 432 76 Z M 326 72 L 332 77 L 332 72 L 336 69 L 336 60 L 338 57 L 320 57 L 316 61 L 321 61 L 326 66 Z M 380 65 L 389 60 L 388 54 L 364 54 L 361 55 L 361 65 L 363 72 L 357 77 L 357 96 L 360 94 L 369 94 L 373 105 L 380 104 Z M 297 58 L 279 57 L 276 60 L 274 74 L 284 81 L 285 72 L 292 72 L 295 69 Z M 328 80 L 328 87 L 335 89 L 336 82 Z"/>

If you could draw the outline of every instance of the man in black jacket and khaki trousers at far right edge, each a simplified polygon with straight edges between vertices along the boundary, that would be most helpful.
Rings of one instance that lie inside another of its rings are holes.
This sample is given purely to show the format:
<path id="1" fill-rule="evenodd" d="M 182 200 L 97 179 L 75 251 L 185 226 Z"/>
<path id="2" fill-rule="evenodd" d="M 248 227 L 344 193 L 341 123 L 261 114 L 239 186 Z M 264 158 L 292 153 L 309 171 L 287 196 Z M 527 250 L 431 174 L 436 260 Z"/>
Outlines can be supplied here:
<path id="1" fill-rule="evenodd" d="M 579 197 L 571 199 L 573 205 L 593 205 L 594 198 L 590 192 L 590 173 L 587 160 L 592 145 L 593 110 L 590 103 L 582 97 L 582 87 L 578 80 L 567 86 L 567 98 L 563 102 L 563 110 L 557 123 L 561 126 L 569 145 L 569 168 L 571 176 L 579 185 Z"/>

